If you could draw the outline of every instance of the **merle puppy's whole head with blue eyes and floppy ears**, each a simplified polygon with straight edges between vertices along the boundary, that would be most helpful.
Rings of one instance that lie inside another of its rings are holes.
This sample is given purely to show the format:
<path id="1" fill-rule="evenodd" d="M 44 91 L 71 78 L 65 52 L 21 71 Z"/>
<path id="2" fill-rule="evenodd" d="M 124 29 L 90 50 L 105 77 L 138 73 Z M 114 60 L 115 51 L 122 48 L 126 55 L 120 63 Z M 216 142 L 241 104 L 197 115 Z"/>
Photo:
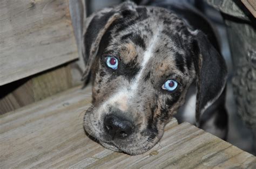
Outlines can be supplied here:
<path id="1" fill-rule="evenodd" d="M 201 31 L 169 10 L 126 2 L 94 13 L 84 25 L 84 79 L 92 74 L 93 107 L 84 128 L 114 151 L 140 154 L 197 80 L 197 121 L 223 91 L 226 66 Z"/>

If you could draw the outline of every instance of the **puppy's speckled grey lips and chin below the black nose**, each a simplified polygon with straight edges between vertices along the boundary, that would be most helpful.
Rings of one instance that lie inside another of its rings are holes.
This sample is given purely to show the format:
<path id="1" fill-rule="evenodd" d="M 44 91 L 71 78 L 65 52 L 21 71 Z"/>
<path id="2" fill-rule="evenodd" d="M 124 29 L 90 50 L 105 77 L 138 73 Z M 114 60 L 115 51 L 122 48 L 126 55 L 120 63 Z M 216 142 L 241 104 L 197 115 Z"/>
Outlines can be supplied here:
<path id="1" fill-rule="evenodd" d="M 96 121 L 92 109 L 88 109 L 84 116 L 84 129 L 87 136 L 106 149 L 130 155 L 142 154 L 149 151 L 161 138 L 159 132 L 155 133 L 154 135 L 156 136 L 152 138 L 152 131 L 142 132 L 142 129 L 133 132 L 132 135 L 125 138 L 112 138 L 102 126 L 102 121 Z"/>

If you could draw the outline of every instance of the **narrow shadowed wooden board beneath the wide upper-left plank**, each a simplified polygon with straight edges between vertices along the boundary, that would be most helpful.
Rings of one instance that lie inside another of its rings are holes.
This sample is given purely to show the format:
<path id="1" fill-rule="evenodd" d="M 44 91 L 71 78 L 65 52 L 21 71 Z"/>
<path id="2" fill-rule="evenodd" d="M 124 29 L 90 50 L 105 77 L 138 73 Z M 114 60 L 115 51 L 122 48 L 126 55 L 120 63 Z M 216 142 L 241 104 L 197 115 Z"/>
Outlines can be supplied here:
<path id="1" fill-rule="evenodd" d="M 69 64 L 0 86 L 0 114 L 14 111 L 75 85 L 72 83 Z"/>

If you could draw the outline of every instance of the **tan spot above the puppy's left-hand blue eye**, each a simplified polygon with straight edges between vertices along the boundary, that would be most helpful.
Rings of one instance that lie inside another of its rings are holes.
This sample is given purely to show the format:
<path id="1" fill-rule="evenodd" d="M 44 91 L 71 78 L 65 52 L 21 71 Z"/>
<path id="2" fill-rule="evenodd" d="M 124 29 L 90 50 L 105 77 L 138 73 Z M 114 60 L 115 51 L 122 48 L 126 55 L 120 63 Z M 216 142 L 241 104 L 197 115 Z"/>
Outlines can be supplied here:
<path id="1" fill-rule="evenodd" d="M 122 51 L 120 51 L 120 57 L 122 58 L 122 61 L 124 62 L 124 64 L 127 64 L 130 61 L 134 60 L 136 55 L 137 55 L 137 50 L 132 43 L 125 44 L 124 47 L 122 48 Z"/>

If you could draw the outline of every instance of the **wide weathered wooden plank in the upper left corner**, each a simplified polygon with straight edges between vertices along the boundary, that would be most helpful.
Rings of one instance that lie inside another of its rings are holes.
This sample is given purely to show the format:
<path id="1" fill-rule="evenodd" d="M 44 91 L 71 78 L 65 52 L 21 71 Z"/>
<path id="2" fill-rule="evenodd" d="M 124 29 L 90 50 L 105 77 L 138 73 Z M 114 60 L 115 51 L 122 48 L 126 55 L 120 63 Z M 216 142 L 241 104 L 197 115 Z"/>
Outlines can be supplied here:
<path id="1" fill-rule="evenodd" d="M 0 1 L 0 86 L 78 58 L 68 0 Z"/>

